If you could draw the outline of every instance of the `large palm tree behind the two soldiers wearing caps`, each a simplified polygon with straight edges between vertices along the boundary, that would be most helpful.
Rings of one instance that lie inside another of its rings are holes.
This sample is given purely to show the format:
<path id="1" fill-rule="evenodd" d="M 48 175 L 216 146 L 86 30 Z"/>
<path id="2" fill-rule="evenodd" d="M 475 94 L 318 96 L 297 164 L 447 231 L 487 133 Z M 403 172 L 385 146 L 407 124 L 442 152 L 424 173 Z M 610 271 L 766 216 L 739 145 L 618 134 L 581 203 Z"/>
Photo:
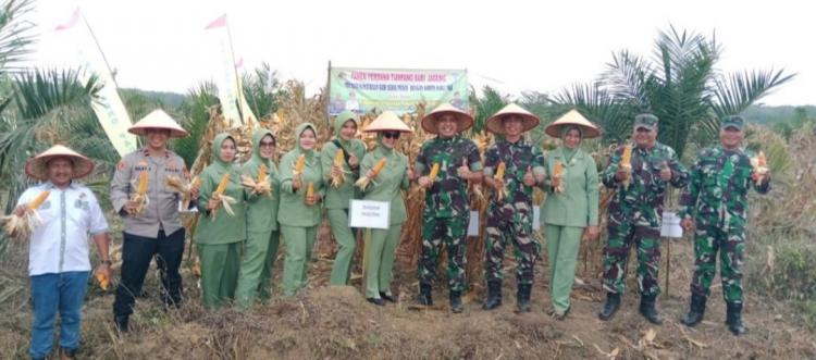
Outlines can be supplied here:
<path id="1" fill-rule="evenodd" d="M 716 138 L 719 119 L 739 114 L 795 75 L 781 70 L 725 74 L 716 69 L 720 53 L 714 36 L 669 26 L 658 34 L 651 60 L 618 51 L 597 82 L 564 89 L 552 101 L 597 122 L 607 142 L 629 137 L 634 114 L 654 113 L 660 119 L 658 140 L 682 157 L 689 139 L 707 145 Z"/>

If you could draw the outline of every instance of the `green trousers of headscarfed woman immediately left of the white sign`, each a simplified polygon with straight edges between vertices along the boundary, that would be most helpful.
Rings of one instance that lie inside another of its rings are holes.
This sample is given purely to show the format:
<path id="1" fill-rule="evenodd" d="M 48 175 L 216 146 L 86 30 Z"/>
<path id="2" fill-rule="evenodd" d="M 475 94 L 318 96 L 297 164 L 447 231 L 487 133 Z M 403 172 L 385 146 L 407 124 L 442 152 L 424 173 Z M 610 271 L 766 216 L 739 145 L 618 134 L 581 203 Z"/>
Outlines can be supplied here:
<path id="1" fill-rule="evenodd" d="M 355 232 L 348 227 L 347 209 L 326 209 L 326 218 L 332 225 L 332 235 L 337 240 L 337 256 L 332 265 L 332 276 L 329 278 L 331 285 L 347 285 L 351 275 L 351 261 L 355 256 L 357 237 Z"/>

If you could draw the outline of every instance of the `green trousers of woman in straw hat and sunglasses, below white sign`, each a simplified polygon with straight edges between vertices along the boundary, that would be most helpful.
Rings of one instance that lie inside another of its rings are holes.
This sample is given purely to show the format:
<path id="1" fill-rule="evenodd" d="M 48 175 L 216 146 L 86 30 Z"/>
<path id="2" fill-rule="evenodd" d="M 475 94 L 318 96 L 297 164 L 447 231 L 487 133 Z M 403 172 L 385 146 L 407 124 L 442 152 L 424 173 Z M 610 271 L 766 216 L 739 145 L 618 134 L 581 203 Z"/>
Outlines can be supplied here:
<path id="1" fill-rule="evenodd" d="M 388 229 L 366 229 L 366 298 L 380 298 L 380 293 L 391 294 L 394 256 L 403 224 L 391 225 Z"/>

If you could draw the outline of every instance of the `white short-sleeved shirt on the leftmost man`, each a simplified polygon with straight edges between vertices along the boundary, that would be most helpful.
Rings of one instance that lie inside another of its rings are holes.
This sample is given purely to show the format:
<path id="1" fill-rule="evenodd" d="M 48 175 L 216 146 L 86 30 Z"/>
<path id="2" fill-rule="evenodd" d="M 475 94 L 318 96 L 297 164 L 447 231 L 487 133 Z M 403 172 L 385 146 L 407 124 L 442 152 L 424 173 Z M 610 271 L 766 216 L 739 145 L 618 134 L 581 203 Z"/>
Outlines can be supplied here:
<path id="1" fill-rule="evenodd" d="M 30 202 L 45 190 L 51 194 L 37 209 L 42 224 L 32 233 L 28 275 L 90 271 L 88 235 L 108 232 L 97 198 L 76 182 L 71 182 L 64 190 L 44 183 L 26 189 L 17 204 Z"/>

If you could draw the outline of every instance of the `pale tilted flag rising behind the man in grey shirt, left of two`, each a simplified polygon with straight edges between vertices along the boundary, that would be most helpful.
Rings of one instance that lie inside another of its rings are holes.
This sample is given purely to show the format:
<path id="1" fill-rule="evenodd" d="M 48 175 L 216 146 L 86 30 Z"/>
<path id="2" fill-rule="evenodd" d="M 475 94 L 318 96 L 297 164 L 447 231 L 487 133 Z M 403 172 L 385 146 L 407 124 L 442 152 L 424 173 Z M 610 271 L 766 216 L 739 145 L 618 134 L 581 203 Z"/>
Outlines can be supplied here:
<path id="1" fill-rule="evenodd" d="M 76 26 L 82 20 L 82 13 L 77 8 L 71 18 L 57 26 L 55 32 L 63 33 L 65 36 L 73 37 L 76 42 L 79 57 L 83 61 L 81 77 L 83 83 L 87 83 L 92 75 L 99 77 L 101 88 L 97 98 L 91 101 L 90 107 L 94 109 L 99 124 L 102 125 L 104 134 L 111 140 L 113 148 L 116 149 L 120 157 L 136 150 L 136 136 L 127 133 L 131 127 L 131 115 L 127 113 L 122 99 L 116 90 L 116 83 L 111 76 L 108 64 L 99 49 L 94 34 L 86 25 Z"/>

